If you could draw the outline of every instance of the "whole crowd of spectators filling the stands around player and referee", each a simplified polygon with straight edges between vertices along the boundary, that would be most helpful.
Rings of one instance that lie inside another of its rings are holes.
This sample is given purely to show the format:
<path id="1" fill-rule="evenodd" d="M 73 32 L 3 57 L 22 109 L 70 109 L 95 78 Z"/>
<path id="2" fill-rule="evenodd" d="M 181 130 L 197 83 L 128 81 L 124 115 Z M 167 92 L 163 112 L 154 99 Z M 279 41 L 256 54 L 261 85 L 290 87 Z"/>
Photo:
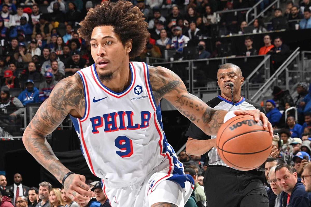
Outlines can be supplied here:
<path id="1" fill-rule="evenodd" d="M 251 25 L 245 21 L 246 12 L 217 14 L 216 11 L 251 7 L 257 2 L 256 0 L 133 0 L 132 2 L 146 17 L 150 32 L 145 51 L 134 59 L 137 61 L 145 61 L 147 56 L 164 57 L 165 49 L 177 52 L 174 58 L 183 59 L 183 51 L 189 41 L 197 41 L 196 55 L 191 58 L 225 56 L 229 54 L 230 48 L 216 41 L 213 48 L 215 50 L 207 51 L 207 43 L 204 40 L 221 34 L 254 34 L 280 29 L 311 28 L 309 0 L 296 1 L 297 5 L 289 1 L 285 11 L 280 8 L 270 10 L 272 18 L 266 18 L 267 13 L 264 13 Z M 260 10 L 271 2 L 263 1 Z M 41 6 L 46 7 L 46 13 L 40 11 Z M 0 5 L 0 126 L 7 132 L 16 130 L 14 124 L 22 113 L 22 107 L 42 103 L 61 79 L 94 63 L 90 53 L 90 43 L 77 34 L 79 21 L 93 6 L 95 6 L 93 2 L 82 0 L 2 1 Z M 165 14 L 163 11 L 166 11 Z M 264 24 L 264 21 L 270 23 Z M 264 36 L 261 48 L 253 47 L 251 36 L 245 37 L 241 45 L 243 45 L 241 51 L 233 55 L 273 55 L 272 72 L 290 54 L 289 47 L 283 43 L 281 37 L 272 39 L 268 34 Z M 20 93 L 15 97 L 11 96 L 11 89 L 20 89 Z M 285 173 L 293 176 L 295 173 L 298 176 L 304 173 L 303 169 L 309 163 L 311 155 L 311 90 L 307 83 L 299 83 L 297 93 L 296 97 L 291 97 L 288 91 L 275 87 L 272 94 L 274 98 L 266 102 L 267 117 L 277 133 L 275 144 L 280 150 L 279 159 L 288 164 L 282 168 L 278 167 L 276 171 L 281 172 L 286 168 Z M 297 108 L 297 118 L 292 110 L 287 111 L 285 115 L 285 110 L 291 106 Z M 202 179 L 207 169 L 207 165 L 204 165 L 205 157 L 189 157 L 185 151 L 182 151 L 179 160 L 185 166 L 185 173 L 190 174 L 195 180 L 193 200 L 204 201 Z M 299 182 L 299 179 L 296 182 Z M 11 190 L 4 180 L 5 176 L 0 175 L 2 190 L 0 207 L 26 207 L 27 205 L 29 207 L 77 207 L 75 206 L 77 204 L 70 203 L 71 200 L 66 197 L 63 190 L 52 188 L 48 182 L 40 183 L 39 189 L 36 187 L 28 189 L 25 194 L 21 181 L 15 181 L 15 176 Z M 268 178 L 267 180 L 269 181 Z M 20 191 L 16 196 L 17 186 L 20 185 Z M 80 205 L 81 207 L 108 206 L 107 199 L 104 199 L 104 193 L 100 192 L 101 187 L 98 185 L 100 184 L 97 184 L 98 188 L 94 187 L 96 184 L 93 185 L 95 194 L 100 195 L 96 196 L 96 199 L 98 197 L 102 200 L 91 199 Z M 281 192 L 289 191 L 281 189 Z"/>

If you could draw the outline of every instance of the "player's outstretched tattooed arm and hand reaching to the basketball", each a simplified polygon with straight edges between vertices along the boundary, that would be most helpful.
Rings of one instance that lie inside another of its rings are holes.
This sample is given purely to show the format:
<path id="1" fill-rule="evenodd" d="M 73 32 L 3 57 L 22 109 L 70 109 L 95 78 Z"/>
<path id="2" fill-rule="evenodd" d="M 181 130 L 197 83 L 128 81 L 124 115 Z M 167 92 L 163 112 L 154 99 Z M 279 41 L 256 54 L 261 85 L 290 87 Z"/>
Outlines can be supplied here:
<path id="1" fill-rule="evenodd" d="M 217 134 L 228 111 L 215 110 L 207 106 L 207 104 L 198 97 L 188 93 L 183 81 L 171 70 L 163 67 L 149 66 L 149 79 L 157 105 L 162 98 L 165 98 L 203 132 L 208 135 Z M 235 112 L 235 115 L 242 114 L 252 115 L 256 121 L 261 119 L 264 127 L 268 128 L 268 119 L 264 114 L 261 114 L 259 110 Z M 273 135 L 272 126 L 269 126 L 269 130 Z"/>

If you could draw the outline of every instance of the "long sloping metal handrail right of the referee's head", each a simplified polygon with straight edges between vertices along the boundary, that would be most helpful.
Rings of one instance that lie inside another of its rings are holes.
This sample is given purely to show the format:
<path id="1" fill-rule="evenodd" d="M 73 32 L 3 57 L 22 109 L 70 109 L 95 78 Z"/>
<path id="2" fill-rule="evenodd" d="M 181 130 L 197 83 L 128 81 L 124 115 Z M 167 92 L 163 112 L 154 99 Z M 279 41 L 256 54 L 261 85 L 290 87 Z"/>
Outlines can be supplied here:
<path id="1" fill-rule="evenodd" d="M 251 101 L 255 101 L 256 102 L 258 100 L 258 98 L 262 95 L 262 93 L 266 92 L 266 88 L 268 88 L 273 83 L 272 80 L 275 80 L 276 76 L 279 76 L 279 74 L 285 70 L 285 66 L 287 66 L 289 64 L 289 62 L 292 61 L 293 58 L 295 58 L 297 55 L 299 55 L 299 53 L 300 53 L 300 52 L 298 52 L 299 48 L 300 47 L 297 47 L 295 49 L 295 51 L 292 54 L 290 54 L 290 56 L 276 70 L 276 72 L 266 81 L 266 83 L 264 83 L 262 85 L 262 87 L 259 88 L 259 90 L 251 98 Z M 260 95 L 259 95 L 259 93 L 260 93 Z M 257 99 L 254 99 L 255 97 L 257 97 Z"/>

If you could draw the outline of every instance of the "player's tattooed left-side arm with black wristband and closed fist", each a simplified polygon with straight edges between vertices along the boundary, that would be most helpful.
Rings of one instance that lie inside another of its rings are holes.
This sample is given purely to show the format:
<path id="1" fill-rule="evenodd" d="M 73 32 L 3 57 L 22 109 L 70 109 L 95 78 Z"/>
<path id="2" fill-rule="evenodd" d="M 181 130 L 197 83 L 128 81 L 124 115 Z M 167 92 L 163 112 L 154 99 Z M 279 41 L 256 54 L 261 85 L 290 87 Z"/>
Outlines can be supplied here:
<path id="1" fill-rule="evenodd" d="M 70 172 L 55 156 L 46 136 L 52 133 L 66 118 L 68 113 L 79 116 L 85 108 L 83 86 L 79 74 L 62 79 L 44 101 L 23 134 L 27 151 L 59 182 Z M 77 187 L 79 185 L 80 187 Z M 75 201 L 85 200 L 81 195 L 90 195 L 85 177 L 78 174 L 68 176 L 65 190 Z"/>

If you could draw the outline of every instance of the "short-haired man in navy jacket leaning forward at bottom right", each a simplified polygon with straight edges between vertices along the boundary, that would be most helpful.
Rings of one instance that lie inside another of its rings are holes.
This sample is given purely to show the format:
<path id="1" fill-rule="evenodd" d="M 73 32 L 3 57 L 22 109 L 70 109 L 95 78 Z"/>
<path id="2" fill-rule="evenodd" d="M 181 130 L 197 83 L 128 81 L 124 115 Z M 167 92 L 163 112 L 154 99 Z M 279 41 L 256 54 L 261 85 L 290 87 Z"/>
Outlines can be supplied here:
<path id="1" fill-rule="evenodd" d="M 277 184 L 282 188 L 281 205 L 310 206 L 311 193 L 305 191 L 295 169 L 288 164 L 278 165 L 275 169 Z M 289 199 L 288 199 L 289 197 Z"/>

